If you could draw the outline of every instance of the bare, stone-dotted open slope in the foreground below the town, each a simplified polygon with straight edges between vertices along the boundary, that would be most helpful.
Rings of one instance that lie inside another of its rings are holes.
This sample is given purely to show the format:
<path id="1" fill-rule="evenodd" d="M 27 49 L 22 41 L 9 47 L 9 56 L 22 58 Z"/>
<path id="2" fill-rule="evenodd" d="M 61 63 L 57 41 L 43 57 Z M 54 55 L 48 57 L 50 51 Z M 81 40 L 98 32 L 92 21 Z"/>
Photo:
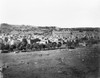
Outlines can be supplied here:
<path id="1" fill-rule="evenodd" d="M 3 78 L 99 78 L 99 47 L 2 53 Z"/>

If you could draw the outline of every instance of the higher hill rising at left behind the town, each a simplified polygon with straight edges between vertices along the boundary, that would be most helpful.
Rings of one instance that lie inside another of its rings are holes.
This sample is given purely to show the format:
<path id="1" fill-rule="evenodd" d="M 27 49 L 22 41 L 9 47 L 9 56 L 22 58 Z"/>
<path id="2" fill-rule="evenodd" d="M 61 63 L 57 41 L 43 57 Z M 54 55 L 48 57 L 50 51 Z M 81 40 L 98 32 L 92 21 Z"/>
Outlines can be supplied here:
<path id="1" fill-rule="evenodd" d="M 19 33 L 35 33 L 35 34 L 44 34 L 50 33 L 55 27 L 34 27 L 29 25 L 10 25 L 6 23 L 2 23 L 0 25 L 0 33 L 6 34 L 19 34 Z M 15 33 L 14 33 L 15 32 Z"/>

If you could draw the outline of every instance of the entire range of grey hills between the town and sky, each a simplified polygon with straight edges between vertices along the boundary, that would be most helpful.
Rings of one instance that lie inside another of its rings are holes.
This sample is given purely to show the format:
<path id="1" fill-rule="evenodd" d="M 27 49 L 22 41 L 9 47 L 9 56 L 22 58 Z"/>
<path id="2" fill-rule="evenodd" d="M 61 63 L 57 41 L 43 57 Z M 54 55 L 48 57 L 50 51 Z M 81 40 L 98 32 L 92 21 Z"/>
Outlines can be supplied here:
<path id="1" fill-rule="evenodd" d="M 53 37 L 71 37 L 83 35 L 94 35 L 99 36 L 100 28 L 58 28 L 55 26 L 32 26 L 32 25 L 11 25 L 2 23 L 0 25 L 0 33 L 6 34 L 34 34 L 42 36 L 53 36 Z"/>

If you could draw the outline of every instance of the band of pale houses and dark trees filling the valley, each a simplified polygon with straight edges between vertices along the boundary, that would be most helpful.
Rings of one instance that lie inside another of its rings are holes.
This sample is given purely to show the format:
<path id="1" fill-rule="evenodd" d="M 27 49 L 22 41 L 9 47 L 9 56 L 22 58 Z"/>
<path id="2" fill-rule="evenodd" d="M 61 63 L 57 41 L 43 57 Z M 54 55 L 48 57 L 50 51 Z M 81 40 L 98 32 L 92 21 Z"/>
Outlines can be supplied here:
<path id="1" fill-rule="evenodd" d="M 0 50 L 1 52 L 17 51 L 36 51 L 51 50 L 57 48 L 82 45 L 86 46 L 90 39 L 98 38 L 93 33 L 80 33 L 79 31 L 53 31 L 52 35 L 34 35 L 34 34 L 1 34 Z M 100 38 L 98 38 L 100 40 Z"/>

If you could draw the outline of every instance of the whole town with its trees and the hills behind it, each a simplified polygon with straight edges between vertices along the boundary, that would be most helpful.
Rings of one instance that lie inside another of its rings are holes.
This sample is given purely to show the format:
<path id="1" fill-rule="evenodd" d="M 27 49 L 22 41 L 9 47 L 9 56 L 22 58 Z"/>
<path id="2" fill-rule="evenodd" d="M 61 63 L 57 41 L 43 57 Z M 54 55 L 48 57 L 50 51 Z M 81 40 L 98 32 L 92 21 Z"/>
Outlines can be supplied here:
<path id="1" fill-rule="evenodd" d="M 1 53 L 91 46 L 100 42 L 100 28 L 58 28 L 0 25 Z"/>

